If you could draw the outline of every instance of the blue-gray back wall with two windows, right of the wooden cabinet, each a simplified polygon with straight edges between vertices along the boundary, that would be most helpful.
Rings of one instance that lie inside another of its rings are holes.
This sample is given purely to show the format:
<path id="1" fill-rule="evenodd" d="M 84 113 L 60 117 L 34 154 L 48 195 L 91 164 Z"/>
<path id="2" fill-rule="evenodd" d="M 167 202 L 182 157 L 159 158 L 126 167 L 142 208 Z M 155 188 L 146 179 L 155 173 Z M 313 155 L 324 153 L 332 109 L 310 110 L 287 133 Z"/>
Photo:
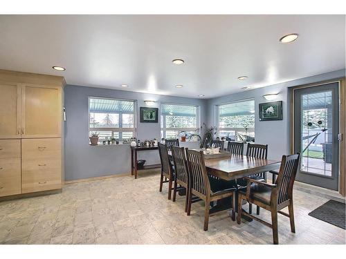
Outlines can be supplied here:
<path id="1" fill-rule="evenodd" d="M 88 133 L 88 97 L 113 97 L 137 100 L 137 137 L 140 140 L 160 139 L 160 122 L 140 123 L 139 108 L 145 106 L 144 100 L 175 104 L 194 104 L 201 106 L 201 124 L 206 122 L 207 101 L 164 95 L 150 95 L 122 90 L 70 86 L 65 88 L 65 180 L 78 180 L 116 173 L 128 173 L 130 169 L 129 145 L 89 146 Z M 196 143 L 190 143 L 190 145 Z M 193 146 L 191 146 L 193 147 Z M 139 153 L 138 153 L 139 154 Z M 160 162 L 158 151 L 141 152 L 138 159 L 147 160 L 147 164 Z"/>

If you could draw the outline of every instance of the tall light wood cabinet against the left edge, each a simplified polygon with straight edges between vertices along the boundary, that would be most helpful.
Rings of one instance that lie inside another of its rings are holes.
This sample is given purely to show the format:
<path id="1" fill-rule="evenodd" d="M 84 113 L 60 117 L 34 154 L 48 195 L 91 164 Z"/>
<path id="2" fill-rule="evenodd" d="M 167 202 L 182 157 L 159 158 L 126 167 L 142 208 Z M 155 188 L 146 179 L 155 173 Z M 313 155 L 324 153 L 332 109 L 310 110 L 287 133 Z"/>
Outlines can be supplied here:
<path id="1" fill-rule="evenodd" d="M 64 84 L 0 70 L 0 197 L 62 188 Z"/>

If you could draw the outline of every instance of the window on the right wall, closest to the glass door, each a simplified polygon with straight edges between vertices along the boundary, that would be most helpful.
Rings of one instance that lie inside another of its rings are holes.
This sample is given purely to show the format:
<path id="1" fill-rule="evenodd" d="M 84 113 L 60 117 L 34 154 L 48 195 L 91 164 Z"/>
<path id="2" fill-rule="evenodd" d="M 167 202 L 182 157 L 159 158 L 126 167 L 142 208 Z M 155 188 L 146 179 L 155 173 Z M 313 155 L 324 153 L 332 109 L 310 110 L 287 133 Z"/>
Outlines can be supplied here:
<path id="1" fill-rule="evenodd" d="M 219 137 L 255 142 L 255 100 L 247 99 L 217 106 Z"/>

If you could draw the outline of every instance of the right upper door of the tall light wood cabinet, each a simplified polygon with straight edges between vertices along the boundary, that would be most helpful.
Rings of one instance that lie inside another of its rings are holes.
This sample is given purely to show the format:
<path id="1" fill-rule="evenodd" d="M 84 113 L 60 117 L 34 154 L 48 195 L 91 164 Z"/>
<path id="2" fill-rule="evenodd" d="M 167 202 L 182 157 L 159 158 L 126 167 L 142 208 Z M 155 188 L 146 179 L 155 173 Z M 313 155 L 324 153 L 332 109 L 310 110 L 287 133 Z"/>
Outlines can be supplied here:
<path id="1" fill-rule="evenodd" d="M 21 89 L 21 137 L 61 137 L 62 89 L 26 84 Z"/>

